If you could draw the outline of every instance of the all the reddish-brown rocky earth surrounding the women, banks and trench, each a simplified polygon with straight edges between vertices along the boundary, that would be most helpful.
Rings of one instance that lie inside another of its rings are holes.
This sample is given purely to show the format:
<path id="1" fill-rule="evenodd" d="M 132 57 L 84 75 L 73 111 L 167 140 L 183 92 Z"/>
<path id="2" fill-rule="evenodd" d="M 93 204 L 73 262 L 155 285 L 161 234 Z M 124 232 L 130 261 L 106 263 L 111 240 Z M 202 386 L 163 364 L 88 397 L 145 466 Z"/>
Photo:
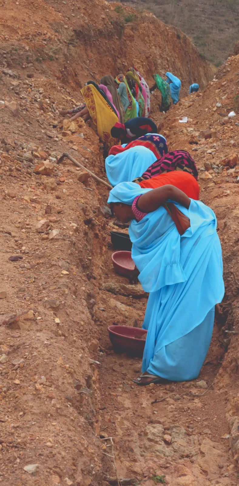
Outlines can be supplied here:
<path id="1" fill-rule="evenodd" d="M 23 0 L 1 11 L 0 484 L 154 486 L 156 471 L 168 486 L 237 486 L 239 165 L 221 160 L 238 152 L 239 55 L 210 81 L 186 35 L 175 49 L 175 28 L 130 7 L 122 19 L 117 6 Z M 226 285 L 199 379 L 143 389 L 132 384 L 140 360 L 115 354 L 107 332 L 140 326 L 147 304 L 139 284 L 113 271 L 110 231 L 119 228 L 108 191 L 82 183 L 69 160 L 57 164 L 67 151 L 106 180 L 94 131 L 78 119 L 63 136 L 69 121 L 58 110 L 81 100 L 87 79 L 132 63 L 149 83 L 154 70 L 180 73 L 183 94 L 194 76 L 205 86 L 165 117 L 154 94 L 152 119 L 169 149 L 185 148 L 201 168 Z M 46 158 L 50 175 L 38 174 Z"/>

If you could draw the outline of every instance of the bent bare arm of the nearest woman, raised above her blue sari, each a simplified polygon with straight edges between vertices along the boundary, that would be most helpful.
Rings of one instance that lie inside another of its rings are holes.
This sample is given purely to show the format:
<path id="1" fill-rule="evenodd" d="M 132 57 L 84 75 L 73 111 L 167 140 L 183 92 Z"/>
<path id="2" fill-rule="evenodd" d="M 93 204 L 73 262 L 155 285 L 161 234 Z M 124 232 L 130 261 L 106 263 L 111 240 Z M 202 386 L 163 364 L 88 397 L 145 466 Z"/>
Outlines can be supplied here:
<path id="1" fill-rule="evenodd" d="M 189 208 L 189 197 L 183 191 L 180 191 L 180 189 L 171 186 L 170 184 L 145 192 L 145 194 L 142 194 L 138 199 L 137 206 L 143 212 L 153 212 L 169 199 L 181 204 L 187 209 Z"/>

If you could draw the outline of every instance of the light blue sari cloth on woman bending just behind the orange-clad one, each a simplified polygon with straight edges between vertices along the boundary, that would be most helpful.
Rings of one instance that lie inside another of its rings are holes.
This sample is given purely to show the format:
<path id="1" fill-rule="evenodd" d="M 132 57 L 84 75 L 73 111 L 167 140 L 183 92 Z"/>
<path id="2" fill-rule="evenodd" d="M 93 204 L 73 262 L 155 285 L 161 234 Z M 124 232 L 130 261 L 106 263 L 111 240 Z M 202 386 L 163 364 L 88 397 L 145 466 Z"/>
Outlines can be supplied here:
<path id="1" fill-rule="evenodd" d="M 105 159 L 105 170 L 111 186 L 128 182 L 140 177 L 157 160 L 154 153 L 146 147 L 131 147 L 117 155 Z"/>

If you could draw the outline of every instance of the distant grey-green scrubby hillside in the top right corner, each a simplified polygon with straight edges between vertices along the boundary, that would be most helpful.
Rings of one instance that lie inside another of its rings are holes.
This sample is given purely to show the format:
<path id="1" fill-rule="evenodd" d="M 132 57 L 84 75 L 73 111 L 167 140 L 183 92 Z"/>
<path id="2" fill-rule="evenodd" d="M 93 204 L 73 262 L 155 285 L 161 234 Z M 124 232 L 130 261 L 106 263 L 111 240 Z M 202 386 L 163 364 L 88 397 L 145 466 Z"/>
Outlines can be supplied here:
<path id="1" fill-rule="evenodd" d="M 239 39 L 239 0 L 124 0 L 126 5 L 149 9 L 166 24 L 185 32 L 202 55 L 222 65 Z M 181 32 L 178 32 L 180 40 Z"/>

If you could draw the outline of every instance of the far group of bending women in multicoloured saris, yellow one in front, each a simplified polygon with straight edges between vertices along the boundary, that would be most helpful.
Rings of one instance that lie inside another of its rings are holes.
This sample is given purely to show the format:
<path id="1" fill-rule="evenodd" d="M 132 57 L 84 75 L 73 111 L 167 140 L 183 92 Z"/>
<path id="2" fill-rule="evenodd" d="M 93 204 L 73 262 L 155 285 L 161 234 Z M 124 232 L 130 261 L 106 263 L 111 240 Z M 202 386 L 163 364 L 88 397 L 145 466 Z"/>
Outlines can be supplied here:
<path id="1" fill-rule="evenodd" d="M 180 80 L 170 72 L 166 75 L 167 82 L 159 75 L 154 75 L 155 83 L 162 94 L 160 108 L 162 111 L 167 111 L 171 99 L 173 103 L 178 101 L 181 86 Z M 165 92 L 166 97 L 164 97 Z M 134 67 L 127 71 L 126 76 L 119 74 L 115 80 L 111 75 L 103 76 L 100 85 L 88 81 L 81 89 L 81 93 L 85 103 L 72 110 L 62 110 L 60 114 L 72 115 L 71 120 L 76 120 L 78 117 L 85 121 L 89 119 L 106 151 L 119 142 L 111 135 L 111 128 L 117 122 L 127 123 L 137 117 L 143 119 L 150 115 L 150 89 L 143 76 Z"/>

